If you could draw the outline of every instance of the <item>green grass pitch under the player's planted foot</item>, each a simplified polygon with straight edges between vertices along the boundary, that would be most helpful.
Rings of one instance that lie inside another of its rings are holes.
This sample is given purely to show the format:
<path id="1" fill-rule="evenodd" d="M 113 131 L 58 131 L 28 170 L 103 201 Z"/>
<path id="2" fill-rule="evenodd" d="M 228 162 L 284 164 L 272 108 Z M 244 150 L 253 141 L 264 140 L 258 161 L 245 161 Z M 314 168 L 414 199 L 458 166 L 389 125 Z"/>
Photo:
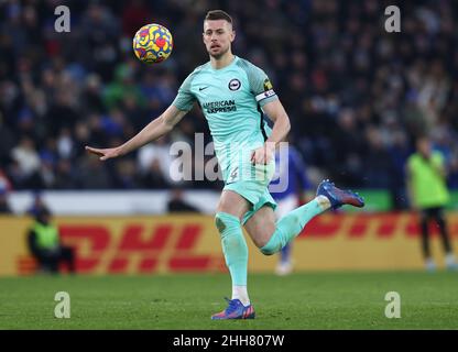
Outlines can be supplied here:
<path id="1" fill-rule="evenodd" d="M 254 320 L 212 321 L 228 274 L 0 278 L 0 329 L 458 329 L 458 273 L 335 272 L 249 276 Z M 57 292 L 70 318 L 57 319 Z M 384 315 L 401 295 L 401 318 Z"/>

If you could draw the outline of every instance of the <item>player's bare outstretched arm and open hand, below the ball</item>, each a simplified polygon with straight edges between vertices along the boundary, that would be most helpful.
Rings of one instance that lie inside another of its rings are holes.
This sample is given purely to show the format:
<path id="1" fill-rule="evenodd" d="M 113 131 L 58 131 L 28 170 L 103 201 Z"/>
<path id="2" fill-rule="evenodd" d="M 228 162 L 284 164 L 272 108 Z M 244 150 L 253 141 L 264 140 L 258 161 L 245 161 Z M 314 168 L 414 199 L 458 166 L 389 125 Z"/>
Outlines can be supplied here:
<path id="1" fill-rule="evenodd" d="M 183 119 L 186 112 L 178 110 L 174 106 L 170 106 L 157 119 L 146 124 L 143 130 L 124 144 L 108 148 L 97 148 L 86 145 L 86 151 L 100 156 L 100 161 L 122 156 L 167 134 Z"/>

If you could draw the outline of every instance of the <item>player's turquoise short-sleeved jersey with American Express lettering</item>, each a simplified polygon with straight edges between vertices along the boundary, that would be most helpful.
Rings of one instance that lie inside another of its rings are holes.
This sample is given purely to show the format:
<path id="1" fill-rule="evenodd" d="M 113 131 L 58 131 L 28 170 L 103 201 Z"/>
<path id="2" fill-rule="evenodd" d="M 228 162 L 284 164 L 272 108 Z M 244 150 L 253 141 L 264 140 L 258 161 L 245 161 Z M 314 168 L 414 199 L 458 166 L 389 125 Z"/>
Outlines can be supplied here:
<path id="1" fill-rule="evenodd" d="M 198 101 L 226 180 L 235 158 L 262 146 L 269 138 L 271 129 L 261 108 L 274 99 L 277 97 L 265 73 L 235 56 L 220 69 L 209 62 L 197 67 L 179 87 L 173 105 L 189 111 Z"/>

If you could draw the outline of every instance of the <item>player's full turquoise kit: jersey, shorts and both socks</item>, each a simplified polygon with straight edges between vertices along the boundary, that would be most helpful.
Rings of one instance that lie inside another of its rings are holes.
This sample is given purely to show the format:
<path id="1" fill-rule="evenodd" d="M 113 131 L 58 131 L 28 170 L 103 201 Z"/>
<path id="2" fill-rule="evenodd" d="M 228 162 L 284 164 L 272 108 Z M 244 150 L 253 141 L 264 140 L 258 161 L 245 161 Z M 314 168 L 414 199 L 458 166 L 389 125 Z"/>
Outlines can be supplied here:
<path id="1" fill-rule="evenodd" d="M 232 299 L 240 298 L 246 306 L 248 294 L 239 295 L 246 293 L 248 267 L 248 246 L 241 226 L 263 206 L 276 207 L 268 189 L 275 169 L 274 158 L 269 165 L 251 163 L 252 152 L 261 147 L 272 132 L 261 108 L 275 99 L 279 98 L 265 73 L 235 56 L 232 63 L 220 69 L 212 68 L 210 63 L 197 67 L 179 87 L 172 103 L 181 111 L 189 111 L 195 101 L 199 103 L 214 139 L 223 189 L 241 195 L 252 205 L 242 221 L 227 212 L 215 216 L 232 278 Z M 261 252 L 266 255 L 279 252 L 301 233 L 305 223 L 323 211 L 317 200 L 291 211 L 277 221 Z"/>

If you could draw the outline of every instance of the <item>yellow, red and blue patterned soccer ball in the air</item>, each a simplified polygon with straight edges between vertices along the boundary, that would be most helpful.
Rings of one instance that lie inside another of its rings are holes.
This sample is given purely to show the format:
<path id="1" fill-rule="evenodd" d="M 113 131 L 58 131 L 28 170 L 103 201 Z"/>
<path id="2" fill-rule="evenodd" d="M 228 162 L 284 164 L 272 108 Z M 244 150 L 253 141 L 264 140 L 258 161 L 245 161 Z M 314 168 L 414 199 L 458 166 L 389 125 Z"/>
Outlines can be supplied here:
<path id="1" fill-rule="evenodd" d="M 145 64 L 157 64 L 166 59 L 173 50 L 171 32 L 163 25 L 143 25 L 133 36 L 133 52 Z"/>

